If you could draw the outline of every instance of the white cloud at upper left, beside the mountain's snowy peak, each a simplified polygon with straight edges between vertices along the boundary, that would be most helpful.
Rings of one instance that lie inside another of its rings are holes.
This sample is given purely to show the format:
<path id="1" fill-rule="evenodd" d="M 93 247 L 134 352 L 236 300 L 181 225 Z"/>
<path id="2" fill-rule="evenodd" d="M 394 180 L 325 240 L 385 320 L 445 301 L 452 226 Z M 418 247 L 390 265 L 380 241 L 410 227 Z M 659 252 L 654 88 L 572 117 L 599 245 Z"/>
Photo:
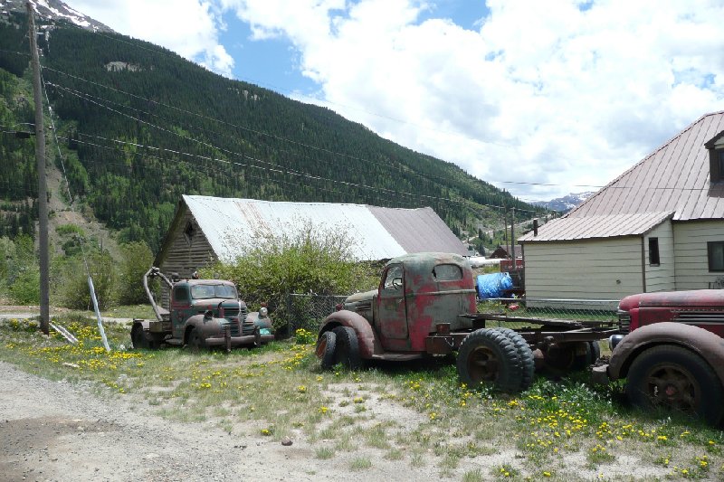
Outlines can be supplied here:
<path id="1" fill-rule="evenodd" d="M 66 0 L 72 8 L 116 32 L 167 47 L 226 77 L 233 58 L 219 43 L 224 28 L 214 5 L 204 0 Z"/>

